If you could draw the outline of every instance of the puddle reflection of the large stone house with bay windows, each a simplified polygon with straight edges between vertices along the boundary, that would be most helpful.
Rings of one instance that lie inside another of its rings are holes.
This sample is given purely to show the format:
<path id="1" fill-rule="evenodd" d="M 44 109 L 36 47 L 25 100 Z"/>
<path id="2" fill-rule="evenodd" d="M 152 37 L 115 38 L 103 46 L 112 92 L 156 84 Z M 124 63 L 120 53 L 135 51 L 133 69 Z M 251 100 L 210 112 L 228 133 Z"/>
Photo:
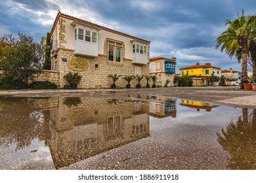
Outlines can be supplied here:
<path id="1" fill-rule="evenodd" d="M 149 136 L 148 103 L 81 98 L 51 110 L 49 148 L 59 169 Z"/>

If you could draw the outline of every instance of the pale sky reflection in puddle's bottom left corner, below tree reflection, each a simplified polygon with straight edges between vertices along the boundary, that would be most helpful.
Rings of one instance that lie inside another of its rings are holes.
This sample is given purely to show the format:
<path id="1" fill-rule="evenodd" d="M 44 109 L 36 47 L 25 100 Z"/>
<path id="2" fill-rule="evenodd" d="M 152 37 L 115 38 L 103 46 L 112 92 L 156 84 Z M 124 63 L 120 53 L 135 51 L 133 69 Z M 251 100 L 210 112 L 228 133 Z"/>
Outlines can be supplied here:
<path id="1" fill-rule="evenodd" d="M 0 169 L 54 169 L 53 159 L 44 141 L 34 139 L 30 146 L 15 152 L 16 144 L 0 149 Z M 37 152 L 31 152 L 37 150 Z"/>

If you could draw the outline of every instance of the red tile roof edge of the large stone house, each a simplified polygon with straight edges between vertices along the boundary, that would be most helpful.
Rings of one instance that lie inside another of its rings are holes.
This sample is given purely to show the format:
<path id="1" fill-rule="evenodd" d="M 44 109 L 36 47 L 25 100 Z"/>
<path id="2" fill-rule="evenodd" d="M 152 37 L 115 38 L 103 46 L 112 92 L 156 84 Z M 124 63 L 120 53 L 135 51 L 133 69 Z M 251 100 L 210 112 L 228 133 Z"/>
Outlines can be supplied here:
<path id="1" fill-rule="evenodd" d="M 115 30 L 113 30 L 113 29 L 110 29 L 110 28 L 108 28 L 108 27 L 104 27 L 104 26 L 102 26 L 102 25 L 97 25 L 97 24 L 94 24 L 94 23 L 91 23 L 91 22 L 88 22 L 88 21 L 85 21 L 85 20 L 81 20 L 81 19 L 79 19 L 79 18 L 75 18 L 74 16 L 70 16 L 70 15 L 68 15 L 68 14 L 63 14 L 62 12 L 60 12 L 60 10 L 58 11 L 58 14 L 57 14 L 57 16 L 56 16 L 56 18 L 55 18 L 55 21 L 54 21 L 54 24 L 53 24 L 53 27 L 52 27 L 52 29 L 51 29 L 51 36 L 53 35 L 53 31 L 54 31 L 54 29 L 55 29 L 55 27 L 56 27 L 56 24 L 57 24 L 57 22 L 58 22 L 58 19 L 59 19 L 60 17 L 62 17 L 62 18 L 67 18 L 67 19 L 69 19 L 69 20 L 74 20 L 74 21 L 77 21 L 77 22 L 81 22 L 82 24 L 91 25 L 91 26 L 96 27 L 96 28 L 98 28 L 98 29 L 103 29 L 103 30 L 105 30 L 105 31 L 109 31 L 109 32 L 112 32 L 112 33 L 116 33 L 116 34 L 118 34 L 118 35 L 123 35 L 123 36 L 129 37 L 129 38 L 131 38 L 131 39 L 136 39 L 136 40 L 138 40 L 138 41 L 144 41 L 144 42 L 147 42 L 148 44 L 150 43 L 150 41 L 147 41 L 147 40 L 144 40 L 144 39 L 140 39 L 139 37 L 134 37 L 134 36 L 128 35 L 128 34 L 126 34 L 126 33 L 121 33 L 121 32 L 119 32 L 119 31 L 115 31 Z"/>

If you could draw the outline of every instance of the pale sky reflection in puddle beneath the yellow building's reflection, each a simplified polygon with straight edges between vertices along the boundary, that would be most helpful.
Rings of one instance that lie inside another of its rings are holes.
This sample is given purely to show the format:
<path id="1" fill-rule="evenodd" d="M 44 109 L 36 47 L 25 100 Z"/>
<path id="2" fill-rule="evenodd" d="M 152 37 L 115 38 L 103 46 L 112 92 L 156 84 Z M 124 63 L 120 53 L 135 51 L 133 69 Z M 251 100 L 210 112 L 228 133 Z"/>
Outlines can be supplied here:
<path id="1" fill-rule="evenodd" d="M 154 122 L 160 122 L 165 124 L 165 127 L 171 127 L 171 124 L 190 124 L 190 125 L 209 125 L 215 127 L 226 127 L 230 122 L 236 122 L 238 117 L 242 115 L 241 108 L 233 107 L 214 107 L 211 111 L 200 109 L 197 111 L 196 108 L 185 107 L 179 105 L 180 101 L 177 100 L 177 117 L 172 118 L 171 116 L 156 119 L 150 117 L 150 130 L 158 129 L 159 125 Z"/>

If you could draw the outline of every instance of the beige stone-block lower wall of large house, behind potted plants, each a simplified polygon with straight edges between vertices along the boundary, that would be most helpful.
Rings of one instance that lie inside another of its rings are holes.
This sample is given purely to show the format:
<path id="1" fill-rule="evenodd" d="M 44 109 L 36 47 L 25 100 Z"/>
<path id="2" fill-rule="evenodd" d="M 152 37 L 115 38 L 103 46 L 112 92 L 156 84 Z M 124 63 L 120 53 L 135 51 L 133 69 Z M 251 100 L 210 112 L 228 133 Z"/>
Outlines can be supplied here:
<path id="1" fill-rule="evenodd" d="M 66 58 L 67 61 L 62 61 L 62 58 Z M 68 61 L 72 59 L 81 59 L 87 62 L 88 68 L 85 71 L 72 71 L 68 67 Z M 108 78 L 108 75 L 135 75 L 135 65 L 131 59 L 123 59 L 122 63 L 110 63 L 107 61 L 106 55 L 98 55 L 96 58 L 90 58 L 85 56 L 75 56 L 74 50 L 58 49 L 56 58 L 52 58 L 53 68 L 60 72 L 60 88 L 64 86 L 65 81 L 63 76 L 68 72 L 79 73 L 82 76 L 81 82 L 78 88 L 110 88 L 112 80 Z M 95 68 L 95 64 L 98 68 Z M 141 65 L 141 75 L 149 75 L 149 63 L 147 65 Z M 122 78 L 119 78 L 116 82 L 116 86 L 125 88 L 127 82 Z M 136 80 L 131 82 L 131 87 L 135 88 L 137 84 Z M 143 79 L 140 82 L 142 86 L 146 86 L 146 80 Z"/>

